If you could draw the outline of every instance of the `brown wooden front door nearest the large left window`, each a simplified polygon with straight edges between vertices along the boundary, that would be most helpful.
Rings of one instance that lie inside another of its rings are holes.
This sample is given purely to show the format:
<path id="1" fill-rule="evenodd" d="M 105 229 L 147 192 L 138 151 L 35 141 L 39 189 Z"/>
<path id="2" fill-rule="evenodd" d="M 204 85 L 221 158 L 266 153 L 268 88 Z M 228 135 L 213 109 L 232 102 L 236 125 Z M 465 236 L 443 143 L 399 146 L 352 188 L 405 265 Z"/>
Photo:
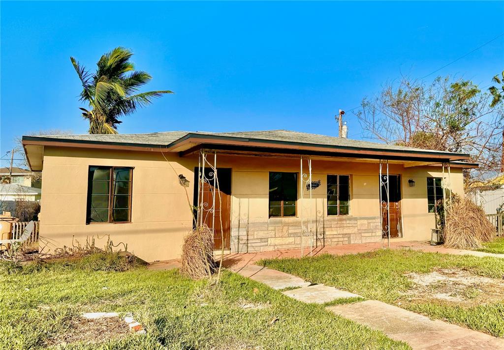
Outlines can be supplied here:
<path id="1" fill-rule="evenodd" d="M 195 169 L 195 194 L 198 193 L 198 168 Z M 230 249 L 231 245 L 231 169 L 218 168 L 217 179 L 219 180 L 220 195 L 217 184 L 214 188 L 213 174 L 210 169 L 205 169 L 205 178 L 209 179 L 200 188 L 200 203 L 197 203 L 195 195 L 195 206 L 201 205 L 203 199 L 203 223 L 214 229 L 214 249 Z M 215 207 L 214 213 L 212 206 Z"/>

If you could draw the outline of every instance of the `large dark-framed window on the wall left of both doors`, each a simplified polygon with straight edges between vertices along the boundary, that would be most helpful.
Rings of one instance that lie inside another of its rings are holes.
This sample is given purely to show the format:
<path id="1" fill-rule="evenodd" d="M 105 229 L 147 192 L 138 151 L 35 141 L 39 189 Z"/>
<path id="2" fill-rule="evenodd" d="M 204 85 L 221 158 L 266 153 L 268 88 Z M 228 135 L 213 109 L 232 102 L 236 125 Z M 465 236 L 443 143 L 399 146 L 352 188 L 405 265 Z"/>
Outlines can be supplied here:
<path id="1" fill-rule="evenodd" d="M 90 166 L 86 223 L 131 222 L 133 168 Z"/>

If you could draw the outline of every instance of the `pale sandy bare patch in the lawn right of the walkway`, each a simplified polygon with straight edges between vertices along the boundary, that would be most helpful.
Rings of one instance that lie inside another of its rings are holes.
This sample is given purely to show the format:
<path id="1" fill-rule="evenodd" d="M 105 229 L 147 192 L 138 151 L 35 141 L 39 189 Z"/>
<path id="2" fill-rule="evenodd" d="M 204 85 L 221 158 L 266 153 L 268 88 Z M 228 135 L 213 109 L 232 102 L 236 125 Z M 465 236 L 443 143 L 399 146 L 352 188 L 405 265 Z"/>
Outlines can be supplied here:
<path id="1" fill-rule="evenodd" d="M 409 273 L 412 282 L 405 295 L 416 301 L 441 300 L 464 305 L 499 301 L 504 295 L 504 281 L 478 276 L 459 268 L 444 268 L 429 273 Z"/>

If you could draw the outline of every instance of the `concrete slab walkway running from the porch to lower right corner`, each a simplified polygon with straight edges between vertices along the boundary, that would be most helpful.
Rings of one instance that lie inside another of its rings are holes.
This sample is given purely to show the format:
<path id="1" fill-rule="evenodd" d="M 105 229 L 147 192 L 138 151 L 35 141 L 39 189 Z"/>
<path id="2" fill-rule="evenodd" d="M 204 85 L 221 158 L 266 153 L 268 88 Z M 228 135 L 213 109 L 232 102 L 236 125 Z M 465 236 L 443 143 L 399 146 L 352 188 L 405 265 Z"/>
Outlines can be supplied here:
<path id="1" fill-rule="evenodd" d="M 282 293 L 305 303 L 324 304 L 341 298 L 360 297 L 324 285 L 312 285 L 291 274 L 257 265 L 232 268 L 235 272 L 282 290 Z M 330 306 L 335 314 L 371 329 L 380 330 L 392 339 L 405 341 L 413 349 L 488 349 L 504 350 L 504 340 L 475 330 L 401 309 L 376 300 Z"/>

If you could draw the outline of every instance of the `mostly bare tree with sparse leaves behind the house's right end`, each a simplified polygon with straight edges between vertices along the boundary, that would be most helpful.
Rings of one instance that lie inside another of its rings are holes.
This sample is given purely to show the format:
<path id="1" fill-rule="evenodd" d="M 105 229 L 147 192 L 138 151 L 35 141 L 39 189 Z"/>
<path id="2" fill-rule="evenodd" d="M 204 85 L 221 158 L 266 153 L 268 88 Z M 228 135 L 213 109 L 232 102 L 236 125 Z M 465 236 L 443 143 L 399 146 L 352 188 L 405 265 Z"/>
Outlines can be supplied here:
<path id="1" fill-rule="evenodd" d="M 427 85 L 402 77 L 387 83 L 354 112 L 366 137 L 388 144 L 464 152 L 480 164 L 467 172 L 466 185 L 499 172 L 502 154 L 502 104 L 471 81 L 436 78 Z"/>

